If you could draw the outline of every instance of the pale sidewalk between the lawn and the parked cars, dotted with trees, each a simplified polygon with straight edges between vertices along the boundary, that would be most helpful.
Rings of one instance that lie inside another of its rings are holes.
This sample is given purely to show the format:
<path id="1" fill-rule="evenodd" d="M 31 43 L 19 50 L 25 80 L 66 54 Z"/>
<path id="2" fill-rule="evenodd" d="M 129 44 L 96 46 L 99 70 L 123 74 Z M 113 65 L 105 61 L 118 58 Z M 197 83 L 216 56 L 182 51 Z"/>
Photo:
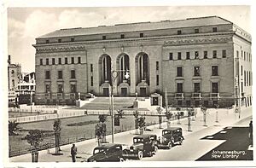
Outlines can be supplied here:
<path id="1" fill-rule="evenodd" d="M 188 119 L 181 119 L 181 125 L 177 125 L 177 121 L 172 121 L 172 126 L 179 126 L 183 128 L 183 136 L 185 139 L 189 138 L 189 135 L 194 134 L 195 132 L 209 127 L 214 127 L 214 131 L 222 130 L 226 126 L 230 126 L 235 124 L 236 122 L 247 119 L 248 117 L 252 116 L 252 107 L 247 107 L 241 111 L 241 118 L 238 119 L 238 113 L 234 113 L 234 109 L 218 109 L 218 123 L 216 121 L 216 109 L 209 110 L 207 112 L 207 126 L 203 126 L 203 118 L 202 114 L 198 113 L 197 118 L 195 121 L 191 120 L 191 130 L 188 130 Z M 166 123 L 162 124 L 163 128 L 166 128 Z M 160 136 L 161 130 L 159 129 L 159 125 L 151 125 L 148 128 L 152 129 L 153 131 L 145 131 L 144 134 L 156 134 Z M 123 143 L 123 144 L 132 144 L 132 137 L 136 136 L 135 130 L 125 131 L 114 135 L 114 142 L 115 143 Z M 111 142 L 111 135 L 107 136 L 107 141 Z M 92 154 L 93 149 L 97 146 L 96 139 L 86 140 L 84 142 L 77 142 L 75 143 L 78 147 L 78 154 L 77 154 L 77 162 L 83 161 L 87 159 Z M 63 155 L 55 156 L 52 155 L 55 153 L 55 148 L 50 148 L 49 150 L 43 150 L 39 152 L 39 162 L 71 162 L 71 155 L 70 155 L 70 148 L 72 144 L 65 145 L 61 147 L 61 153 Z M 49 154 L 48 154 L 49 152 Z M 24 154 L 20 156 L 16 156 L 10 158 L 10 162 L 31 162 L 31 154 Z"/>

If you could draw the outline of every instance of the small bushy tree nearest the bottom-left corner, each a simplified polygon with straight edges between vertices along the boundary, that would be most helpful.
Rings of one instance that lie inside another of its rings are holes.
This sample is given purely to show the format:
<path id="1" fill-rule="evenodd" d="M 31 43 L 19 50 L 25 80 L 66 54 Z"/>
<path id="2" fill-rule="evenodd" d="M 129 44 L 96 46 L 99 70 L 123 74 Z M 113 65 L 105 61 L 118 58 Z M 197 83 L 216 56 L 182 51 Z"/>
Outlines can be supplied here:
<path id="1" fill-rule="evenodd" d="M 38 147 L 44 141 L 44 132 L 42 130 L 30 130 L 25 139 L 31 145 L 32 162 L 38 162 Z"/>

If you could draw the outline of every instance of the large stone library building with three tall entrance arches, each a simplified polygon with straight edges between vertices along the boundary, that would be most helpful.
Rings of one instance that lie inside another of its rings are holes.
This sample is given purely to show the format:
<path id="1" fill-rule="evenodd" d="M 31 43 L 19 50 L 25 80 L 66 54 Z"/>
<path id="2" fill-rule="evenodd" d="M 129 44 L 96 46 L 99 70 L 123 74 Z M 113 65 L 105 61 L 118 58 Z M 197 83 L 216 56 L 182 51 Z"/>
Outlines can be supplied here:
<path id="1" fill-rule="evenodd" d="M 61 29 L 33 46 L 38 104 L 108 96 L 113 84 L 115 96 L 178 106 L 252 105 L 251 36 L 218 16 Z"/>

